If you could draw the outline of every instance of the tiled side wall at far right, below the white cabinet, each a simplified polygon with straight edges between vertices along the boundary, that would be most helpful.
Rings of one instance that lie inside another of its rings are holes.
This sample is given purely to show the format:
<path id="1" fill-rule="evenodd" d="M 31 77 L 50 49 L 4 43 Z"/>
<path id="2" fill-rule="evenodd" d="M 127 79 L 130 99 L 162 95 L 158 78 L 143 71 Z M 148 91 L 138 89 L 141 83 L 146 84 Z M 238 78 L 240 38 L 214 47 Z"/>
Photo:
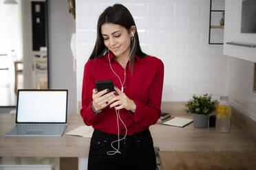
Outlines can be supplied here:
<path id="1" fill-rule="evenodd" d="M 227 94 L 237 110 L 256 121 L 256 93 L 253 93 L 253 62 L 228 57 Z"/>

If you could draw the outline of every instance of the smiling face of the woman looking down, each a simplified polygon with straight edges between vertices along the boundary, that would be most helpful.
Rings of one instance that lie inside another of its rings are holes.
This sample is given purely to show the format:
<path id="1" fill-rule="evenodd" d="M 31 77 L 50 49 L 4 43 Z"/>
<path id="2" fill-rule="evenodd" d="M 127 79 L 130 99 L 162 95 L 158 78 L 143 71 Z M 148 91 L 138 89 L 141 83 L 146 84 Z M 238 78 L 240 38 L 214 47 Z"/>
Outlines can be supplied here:
<path id="1" fill-rule="evenodd" d="M 114 53 L 116 58 L 128 58 L 131 51 L 131 34 L 125 27 L 114 23 L 105 23 L 101 26 L 105 46 Z"/>

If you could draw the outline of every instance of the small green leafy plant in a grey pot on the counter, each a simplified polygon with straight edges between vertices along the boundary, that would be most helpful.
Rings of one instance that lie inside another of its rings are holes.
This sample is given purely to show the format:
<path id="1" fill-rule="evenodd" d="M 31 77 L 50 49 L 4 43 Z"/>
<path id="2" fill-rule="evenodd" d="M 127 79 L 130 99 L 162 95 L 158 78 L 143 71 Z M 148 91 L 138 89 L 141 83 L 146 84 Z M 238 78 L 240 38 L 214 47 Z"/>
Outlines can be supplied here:
<path id="1" fill-rule="evenodd" d="M 208 93 L 202 95 L 193 95 L 185 106 L 186 112 L 193 113 L 194 127 L 204 128 L 208 126 L 209 114 L 216 110 L 217 100 L 212 99 Z"/>

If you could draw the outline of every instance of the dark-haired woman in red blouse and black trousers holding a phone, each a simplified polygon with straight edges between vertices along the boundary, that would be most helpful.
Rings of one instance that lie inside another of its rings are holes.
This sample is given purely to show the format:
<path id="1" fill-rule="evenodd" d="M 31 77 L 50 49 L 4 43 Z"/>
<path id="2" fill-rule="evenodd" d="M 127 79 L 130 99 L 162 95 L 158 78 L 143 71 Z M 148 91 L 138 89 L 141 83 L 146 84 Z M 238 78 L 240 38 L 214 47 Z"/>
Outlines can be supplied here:
<path id="1" fill-rule="evenodd" d="M 149 126 L 161 114 L 163 77 L 162 61 L 140 49 L 129 10 L 106 8 L 83 77 L 81 116 L 94 127 L 88 169 L 156 170 Z M 97 91 L 99 80 L 112 80 L 116 91 Z"/>

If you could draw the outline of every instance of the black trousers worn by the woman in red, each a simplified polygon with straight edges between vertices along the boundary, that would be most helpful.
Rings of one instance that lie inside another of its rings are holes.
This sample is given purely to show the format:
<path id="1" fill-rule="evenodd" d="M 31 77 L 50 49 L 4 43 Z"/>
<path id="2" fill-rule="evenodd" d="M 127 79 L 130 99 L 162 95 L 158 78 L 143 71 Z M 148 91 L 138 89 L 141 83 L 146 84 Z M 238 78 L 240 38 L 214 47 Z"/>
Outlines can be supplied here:
<path id="1" fill-rule="evenodd" d="M 121 154 L 116 153 L 110 156 L 107 151 L 114 151 L 111 142 L 117 139 L 117 135 L 94 130 L 89 149 L 88 170 L 156 170 L 156 154 L 149 129 L 127 135 L 124 140 L 120 141 Z M 118 148 L 117 142 L 114 143 L 114 147 Z"/>

